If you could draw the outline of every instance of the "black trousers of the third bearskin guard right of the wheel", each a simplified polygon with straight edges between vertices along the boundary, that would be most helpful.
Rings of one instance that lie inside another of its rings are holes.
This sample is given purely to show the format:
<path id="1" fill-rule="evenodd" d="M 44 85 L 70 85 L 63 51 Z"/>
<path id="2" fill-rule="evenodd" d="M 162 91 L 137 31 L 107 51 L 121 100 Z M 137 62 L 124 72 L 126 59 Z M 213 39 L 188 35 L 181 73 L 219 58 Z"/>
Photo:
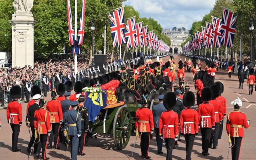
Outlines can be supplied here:
<path id="1" fill-rule="evenodd" d="M 209 150 L 209 142 L 211 137 L 212 128 L 200 128 L 202 134 L 202 150 L 203 154 L 208 153 Z"/>

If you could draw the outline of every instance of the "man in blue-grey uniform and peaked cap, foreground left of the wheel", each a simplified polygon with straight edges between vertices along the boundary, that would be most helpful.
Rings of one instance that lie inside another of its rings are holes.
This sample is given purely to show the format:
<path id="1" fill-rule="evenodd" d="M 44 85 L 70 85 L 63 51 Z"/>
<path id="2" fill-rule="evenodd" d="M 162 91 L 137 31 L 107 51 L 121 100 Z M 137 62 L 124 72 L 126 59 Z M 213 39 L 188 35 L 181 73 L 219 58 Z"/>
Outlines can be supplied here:
<path id="1" fill-rule="evenodd" d="M 81 126 L 81 115 L 78 112 L 77 106 L 78 101 L 70 102 L 72 109 L 67 111 L 64 116 L 64 136 L 68 136 L 70 139 L 71 145 L 71 159 L 77 159 L 78 146 L 79 146 L 79 137 L 82 134 Z"/>

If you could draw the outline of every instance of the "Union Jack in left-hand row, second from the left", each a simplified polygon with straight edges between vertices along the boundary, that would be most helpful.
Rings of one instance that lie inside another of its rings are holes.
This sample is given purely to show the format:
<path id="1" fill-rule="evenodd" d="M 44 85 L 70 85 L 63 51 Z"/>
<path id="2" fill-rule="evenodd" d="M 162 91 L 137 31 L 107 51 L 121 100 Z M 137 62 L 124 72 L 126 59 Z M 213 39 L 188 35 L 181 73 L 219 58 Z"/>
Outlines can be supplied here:
<path id="1" fill-rule="evenodd" d="M 136 46 L 136 28 L 135 28 L 135 17 L 127 20 L 125 30 L 126 48 Z"/>

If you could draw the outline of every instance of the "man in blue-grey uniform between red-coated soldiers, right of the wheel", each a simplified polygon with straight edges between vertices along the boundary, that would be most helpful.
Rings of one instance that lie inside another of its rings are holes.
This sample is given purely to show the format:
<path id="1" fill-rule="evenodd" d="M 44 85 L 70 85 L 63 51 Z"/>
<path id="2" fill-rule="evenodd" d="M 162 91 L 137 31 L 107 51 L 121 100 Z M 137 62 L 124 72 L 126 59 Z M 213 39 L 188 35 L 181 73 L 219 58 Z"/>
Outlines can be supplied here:
<path id="1" fill-rule="evenodd" d="M 154 128 L 155 128 L 155 134 L 156 134 L 157 154 L 162 154 L 163 140 L 160 138 L 160 135 L 159 135 L 159 118 L 162 112 L 166 111 L 166 108 L 164 108 L 164 104 L 163 104 L 164 94 L 161 94 L 160 96 L 158 96 L 158 99 L 159 99 L 159 103 L 153 106 L 152 112 L 154 116 Z"/>

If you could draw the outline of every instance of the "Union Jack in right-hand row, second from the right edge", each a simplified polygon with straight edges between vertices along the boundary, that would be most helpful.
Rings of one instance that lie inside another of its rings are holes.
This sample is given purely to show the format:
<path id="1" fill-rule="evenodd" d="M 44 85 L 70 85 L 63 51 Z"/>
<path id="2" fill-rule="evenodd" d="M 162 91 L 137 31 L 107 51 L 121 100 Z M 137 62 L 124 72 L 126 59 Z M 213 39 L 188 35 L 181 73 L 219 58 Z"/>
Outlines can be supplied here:
<path id="1" fill-rule="evenodd" d="M 220 48 L 221 37 L 221 20 L 212 16 L 212 45 L 216 48 Z"/>

